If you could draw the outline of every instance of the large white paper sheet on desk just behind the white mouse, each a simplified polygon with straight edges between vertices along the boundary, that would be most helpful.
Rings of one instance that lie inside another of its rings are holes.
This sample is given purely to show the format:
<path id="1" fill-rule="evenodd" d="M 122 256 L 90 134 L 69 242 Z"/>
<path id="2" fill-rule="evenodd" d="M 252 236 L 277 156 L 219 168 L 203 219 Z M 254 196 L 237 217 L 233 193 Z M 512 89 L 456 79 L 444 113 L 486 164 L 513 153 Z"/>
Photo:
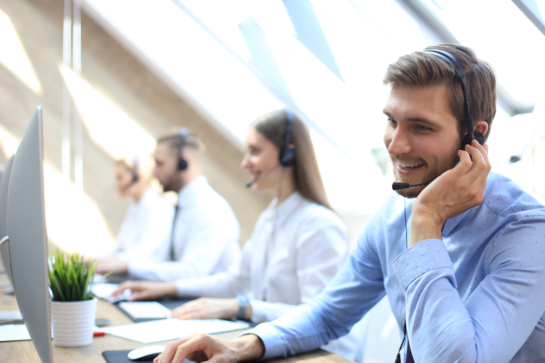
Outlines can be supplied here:
<path id="1" fill-rule="evenodd" d="M 230 322 L 220 319 L 180 320 L 177 318 L 156 320 L 153 322 L 118 325 L 102 328 L 108 334 L 143 344 L 180 339 L 193 333 L 222 333 L 249 328 L 246 323 Z"/>

